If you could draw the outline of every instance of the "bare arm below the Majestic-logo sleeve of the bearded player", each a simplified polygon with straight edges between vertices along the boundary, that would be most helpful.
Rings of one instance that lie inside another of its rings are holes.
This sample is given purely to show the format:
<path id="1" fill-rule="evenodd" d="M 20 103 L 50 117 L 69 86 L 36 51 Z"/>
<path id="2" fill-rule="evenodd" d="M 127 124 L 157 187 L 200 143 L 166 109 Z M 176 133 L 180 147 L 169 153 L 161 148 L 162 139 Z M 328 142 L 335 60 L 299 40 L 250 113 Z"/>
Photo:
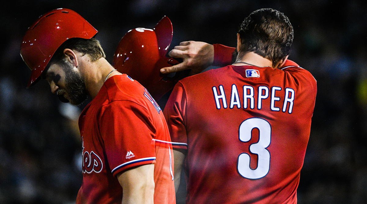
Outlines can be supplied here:
<path id="1" fill-rule="evenodd" d="M 123 189 L 123 204 L 154 203 L 154 164 L 145 164 L 117 175 Z"/>

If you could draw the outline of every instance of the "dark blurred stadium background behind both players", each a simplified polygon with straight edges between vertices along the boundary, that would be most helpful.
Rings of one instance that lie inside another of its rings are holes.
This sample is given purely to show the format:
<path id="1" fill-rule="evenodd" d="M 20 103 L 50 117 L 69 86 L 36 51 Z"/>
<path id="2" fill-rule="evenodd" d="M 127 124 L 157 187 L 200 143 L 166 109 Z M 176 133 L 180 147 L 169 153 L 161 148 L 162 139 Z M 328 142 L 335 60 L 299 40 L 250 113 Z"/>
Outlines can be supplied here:
<path id="1" fill-rule="evenodd" d="M 309 70 L 318 92 L 298 203 L 367 202 L 366 1 L 349 0 L 13 0 L 0 7 L 0 203 L 75 203 L 82 180 L 80 107 L 63 104 L 45 80 L 26 89 L 19 55 L 26 29 L 55 8 L 78 12 L 98 31 L 112 63 L 121 37 L 167 15 L 170 49 L 195 40 L 234 47 L 239 24 L 259 8 L 294 26 L 289 59 Z M 183 202 L 178 195 L 177 203 Z"/>

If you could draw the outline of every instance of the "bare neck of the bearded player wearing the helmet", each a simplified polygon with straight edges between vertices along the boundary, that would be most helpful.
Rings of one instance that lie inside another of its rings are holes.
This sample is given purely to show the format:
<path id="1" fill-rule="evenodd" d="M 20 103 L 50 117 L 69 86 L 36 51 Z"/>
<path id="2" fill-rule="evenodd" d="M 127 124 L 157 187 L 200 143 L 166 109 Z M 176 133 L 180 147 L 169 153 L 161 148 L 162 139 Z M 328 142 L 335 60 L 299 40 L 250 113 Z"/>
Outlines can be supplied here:
<path id="1" fill-rule="evenodd" d="M 105 58 L 98 59 L 96 62 L 84 62 L 81 65 L 86 67 L 84 71 L 85 84 L 91 99 L 97 96 L 99 90 L 101 90 L 105 83 L 106 77 L 110 78 L 113 75 L 121 74 L 118 71 L 113 71 L 115 68 Z"/>

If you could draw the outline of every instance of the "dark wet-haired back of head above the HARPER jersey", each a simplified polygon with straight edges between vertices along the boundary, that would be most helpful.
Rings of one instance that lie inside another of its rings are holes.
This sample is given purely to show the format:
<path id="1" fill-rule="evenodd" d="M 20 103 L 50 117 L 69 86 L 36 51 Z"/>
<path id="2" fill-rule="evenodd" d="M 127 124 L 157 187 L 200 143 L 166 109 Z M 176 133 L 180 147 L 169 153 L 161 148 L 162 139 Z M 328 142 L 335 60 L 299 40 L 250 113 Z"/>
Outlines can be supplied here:
<path id="1" fill-rule="evenodd" d="M 252 12 L 244 19 L 238 33 L 241 38 L 239 52 L 255 52 L 273 65 L 290 53 L 293 27 L 280 11 L 263 8 Z"/>

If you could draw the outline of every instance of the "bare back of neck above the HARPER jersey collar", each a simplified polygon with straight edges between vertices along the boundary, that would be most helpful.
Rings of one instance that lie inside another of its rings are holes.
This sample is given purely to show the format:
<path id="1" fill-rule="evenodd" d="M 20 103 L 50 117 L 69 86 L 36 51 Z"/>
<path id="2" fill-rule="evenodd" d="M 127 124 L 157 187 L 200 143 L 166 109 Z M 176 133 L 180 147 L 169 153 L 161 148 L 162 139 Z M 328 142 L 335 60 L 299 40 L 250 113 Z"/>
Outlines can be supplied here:
<path id="1" fill-rule="evenodd" d="M 236 63 L 236 62 L 246 62 L 246 63 Z M 262 56 L 256 54 L 255 52 L 246 52 L 246 53 L 239 53 L 237 55 L 234 66 L 243 66 L 243 65 L 254 65 L 257 67 L 272 67 L 272 61 L 263 58 Z"/>

